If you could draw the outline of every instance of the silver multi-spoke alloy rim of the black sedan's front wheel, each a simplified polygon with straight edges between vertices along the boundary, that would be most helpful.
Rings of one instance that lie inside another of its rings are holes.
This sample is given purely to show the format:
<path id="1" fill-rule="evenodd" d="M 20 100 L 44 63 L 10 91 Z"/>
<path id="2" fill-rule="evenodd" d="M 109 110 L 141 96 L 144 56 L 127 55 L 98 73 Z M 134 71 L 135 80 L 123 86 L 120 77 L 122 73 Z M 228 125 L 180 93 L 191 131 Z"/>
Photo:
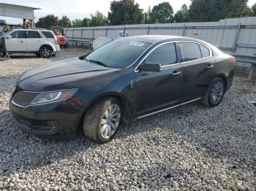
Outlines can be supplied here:
<path id="1" fill-rule="evenodd" d="M 110 139 L 118 128 L 121 119 L 121 109 L 118 104 L 111 104 L 105 110 L 101 125 L 100 133 L 104 139 Z"/>

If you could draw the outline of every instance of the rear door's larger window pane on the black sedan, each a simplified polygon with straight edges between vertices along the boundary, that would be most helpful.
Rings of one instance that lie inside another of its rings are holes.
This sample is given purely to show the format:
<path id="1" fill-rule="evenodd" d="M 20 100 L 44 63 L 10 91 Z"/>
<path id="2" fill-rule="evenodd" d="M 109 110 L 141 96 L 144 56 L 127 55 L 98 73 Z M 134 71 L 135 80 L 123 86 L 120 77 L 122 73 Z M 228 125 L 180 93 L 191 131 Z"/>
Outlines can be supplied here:
<path id="1" fill-rule="evenodd" d="M 193 42 L 180 42 L 183 61 L 194 61 L 202 58 L 199 44 Z"/>

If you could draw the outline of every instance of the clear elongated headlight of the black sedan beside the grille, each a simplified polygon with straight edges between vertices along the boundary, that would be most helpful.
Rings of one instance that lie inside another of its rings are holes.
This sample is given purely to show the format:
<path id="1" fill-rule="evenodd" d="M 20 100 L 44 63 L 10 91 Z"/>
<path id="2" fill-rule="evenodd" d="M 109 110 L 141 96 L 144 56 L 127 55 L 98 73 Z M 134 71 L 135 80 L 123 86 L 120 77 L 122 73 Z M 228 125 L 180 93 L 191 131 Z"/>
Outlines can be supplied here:
<path id="1" fill-rule="evenodd" d="M 54 92 L 43 92 L 39 93 L 33 101 L 31 101 L 31 105 L 34 104 L 45 104 L 53 101 L 61 101 L 67 98 L 70 98 L 74 95 L 78 89 L 71 89 L 71 90 L 59 90 Z"/>

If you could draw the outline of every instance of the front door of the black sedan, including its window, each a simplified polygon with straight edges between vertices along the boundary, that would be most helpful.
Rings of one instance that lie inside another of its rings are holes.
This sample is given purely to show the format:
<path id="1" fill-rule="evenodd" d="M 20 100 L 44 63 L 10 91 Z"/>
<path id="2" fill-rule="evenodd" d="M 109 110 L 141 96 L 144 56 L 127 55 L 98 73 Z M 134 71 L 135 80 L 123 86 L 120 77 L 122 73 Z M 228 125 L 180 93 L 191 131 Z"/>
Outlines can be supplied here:
<path id="1" fill-rule="evenodd" d="M 183 80 L 183 66 L 178 63 L 175 43 L 162 44 L 145 59 L 146 63 L 160 63 L 161 71 L 135 71 L 137 115 L 165 109 L 179 103 Z M 139 68 L 139 67 L 138 67 Z"/>

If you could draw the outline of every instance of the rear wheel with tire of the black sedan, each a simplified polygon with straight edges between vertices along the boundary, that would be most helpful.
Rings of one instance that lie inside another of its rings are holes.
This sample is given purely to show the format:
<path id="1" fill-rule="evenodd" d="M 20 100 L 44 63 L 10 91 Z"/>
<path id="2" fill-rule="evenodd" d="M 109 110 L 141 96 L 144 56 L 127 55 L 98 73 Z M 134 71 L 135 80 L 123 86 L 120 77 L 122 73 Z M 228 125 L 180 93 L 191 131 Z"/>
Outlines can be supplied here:
<path id="1" fill-rule="evenodd" d="M 208 107 L 218 106 L 222 102 L 222 98 L 225 95 L 226 85 L 222 78 L 217 77 L 208 87 L 207 93 L 200 101 L 200 104 Z"/>

